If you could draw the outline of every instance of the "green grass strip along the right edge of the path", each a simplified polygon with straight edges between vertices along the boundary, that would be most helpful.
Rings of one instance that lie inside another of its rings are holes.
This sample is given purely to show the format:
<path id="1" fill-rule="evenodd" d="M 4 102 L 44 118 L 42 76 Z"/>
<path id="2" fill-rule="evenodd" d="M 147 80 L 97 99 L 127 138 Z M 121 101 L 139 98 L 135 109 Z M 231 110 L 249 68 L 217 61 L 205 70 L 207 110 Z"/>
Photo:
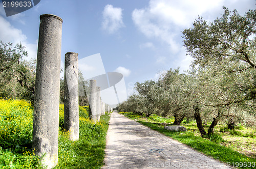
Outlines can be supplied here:
<path id="1" fill-rule="evenodd" d="M 198 133 L 195 133 L 195 124 L 186 124 L 186 132 L 173 132 L 164 129 L 164 125 L 171 123 L 172 119 L 165 119 L 162 117 L 150 117 L 145 118 L 132 112 L 121 112 L 121 114 L 129 117 L 137 122 L 150 127 L 166 136 L 172 137 L 179 142 L 198 150 L 205 155 L 211 156 L 222 162 L 229 163 L 231 166 L 240 168 L 255 168 L 256 159 L 234 151 L 232 148 L 223 146 L 221 143 L 225 143 L 222 138 L 216 139 L 216 142 L 212 142 L 209 139 L 202 138 Z M 249 134 L 250 135 L 250 134 Z M 250 167 L 248 167 L 250 165 Z M 254 167 L 253 167 L 254 166 Z"/>

